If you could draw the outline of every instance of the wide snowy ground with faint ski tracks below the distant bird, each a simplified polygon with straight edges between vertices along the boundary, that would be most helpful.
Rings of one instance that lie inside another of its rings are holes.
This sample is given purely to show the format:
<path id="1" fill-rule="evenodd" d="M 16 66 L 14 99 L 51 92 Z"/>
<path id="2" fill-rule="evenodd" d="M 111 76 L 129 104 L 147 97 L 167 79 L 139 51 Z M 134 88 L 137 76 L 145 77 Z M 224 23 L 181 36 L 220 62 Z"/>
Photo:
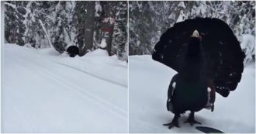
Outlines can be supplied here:
<path id="1" fill-rule="evenodd" d="M 127 64 L 5 44 L 2 132 L 127 132 Z"/>

